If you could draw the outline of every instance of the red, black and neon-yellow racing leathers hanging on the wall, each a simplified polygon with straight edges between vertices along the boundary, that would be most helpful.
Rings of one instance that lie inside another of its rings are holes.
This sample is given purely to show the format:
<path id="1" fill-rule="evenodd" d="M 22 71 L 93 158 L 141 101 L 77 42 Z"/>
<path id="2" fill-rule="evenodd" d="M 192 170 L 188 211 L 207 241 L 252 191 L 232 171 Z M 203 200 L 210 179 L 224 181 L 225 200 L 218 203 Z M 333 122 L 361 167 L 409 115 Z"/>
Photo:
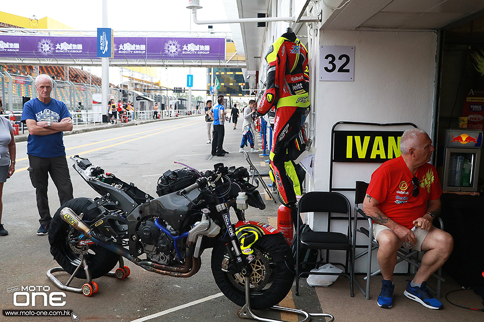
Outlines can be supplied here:
<path id="1" fill-rule="evenodd" d="M 269 159 L 281 201 L 286 206 L 294 205 L 293 183 L 298 180 L 295 172 L 286 171 L 284 163 L 301 151 L 300 147 L 295 151 L 295 138 L 310 111 L 308 51 L 293 32 L 287 32 L 269 47 L 266 61 L 267 87 L 257 114 L 276 109 Z"/>

